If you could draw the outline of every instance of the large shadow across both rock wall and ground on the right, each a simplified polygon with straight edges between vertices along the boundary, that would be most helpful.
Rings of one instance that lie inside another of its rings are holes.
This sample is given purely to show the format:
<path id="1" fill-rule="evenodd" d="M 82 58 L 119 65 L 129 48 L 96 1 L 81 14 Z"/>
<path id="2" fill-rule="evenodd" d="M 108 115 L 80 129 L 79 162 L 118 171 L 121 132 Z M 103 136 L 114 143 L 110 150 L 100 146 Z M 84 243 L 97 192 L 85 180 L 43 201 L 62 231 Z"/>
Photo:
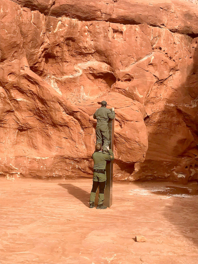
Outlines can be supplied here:
<path id="1" fill-rule="evenodd" d="M 194 51 L 191 52 L 190 58 L 193 63 L 186 65 L 188 72 L 186 81 L 176 87 L 168 98 L 161 98 L 166 100 L 161 112 L 153 113 L 145 120 L 149 148 L 139 173 L 147 179 L 162 179 L 166 176 L 166 181 L 179 182 L 174 184 L 176 186 L 166 183 L 162 191 L 153 193 L 171 196 L 172 203 L 164 204 L 164 217 L 185 240 L 198 247 L 198 191 L 197 187 L 191 189 L 187 186 L 188 181 L 197 181 L 198 175 L 197 41 L 192 50 Z M 155 115 L 158 115 L 157 120 Z"/>

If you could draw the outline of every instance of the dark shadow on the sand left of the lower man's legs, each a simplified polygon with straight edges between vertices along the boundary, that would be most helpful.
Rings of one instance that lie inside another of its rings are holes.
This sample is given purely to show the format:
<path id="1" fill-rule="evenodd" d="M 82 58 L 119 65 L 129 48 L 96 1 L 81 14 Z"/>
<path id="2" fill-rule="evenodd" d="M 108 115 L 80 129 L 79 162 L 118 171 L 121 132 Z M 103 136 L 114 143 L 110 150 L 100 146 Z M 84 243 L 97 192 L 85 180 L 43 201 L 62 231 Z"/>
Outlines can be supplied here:
<path id="1" fill-rule="evenodd" d="M 89 201 L 90 193 L 70 183 L 59 183 L 58 185 L 67 189 L 69 194 L 73 195 L 76 199 L 78 199 L 84 205 L 89 207 L 88 201 Z"/>

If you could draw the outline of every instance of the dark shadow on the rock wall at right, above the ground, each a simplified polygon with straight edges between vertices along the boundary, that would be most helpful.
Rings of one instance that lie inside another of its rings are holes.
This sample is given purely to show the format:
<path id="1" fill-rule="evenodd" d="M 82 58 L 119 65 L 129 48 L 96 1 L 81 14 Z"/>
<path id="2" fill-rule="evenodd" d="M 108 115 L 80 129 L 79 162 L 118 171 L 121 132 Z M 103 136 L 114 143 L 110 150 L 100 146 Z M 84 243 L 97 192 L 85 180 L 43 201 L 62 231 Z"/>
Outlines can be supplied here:
<path id="1" fill-rule="evenodd" d="M 186 63 L 186 79 L 182 79 L 178 86 L 178 77 L 174 76 L 184 70 L 178 64 L 175 72 L 168 77 L 172 85 L 170 94 L 164 92 L 167 79 L 158 80 L 145 101 L 148 150 L 135 179 L 163 178 L 187 184 L 198 177 L 198 43 L 190 38 L 188 42 L 192 49 L 186 53 L 189 56 L 187 62 L 191 60 L 192 63 L 183 62 Z M 169 59 L 173 62 L 175 57 Z M 152 103 L 154 96 L 158 97 L 159 106 L 162 106 L 158 110 Z"/>

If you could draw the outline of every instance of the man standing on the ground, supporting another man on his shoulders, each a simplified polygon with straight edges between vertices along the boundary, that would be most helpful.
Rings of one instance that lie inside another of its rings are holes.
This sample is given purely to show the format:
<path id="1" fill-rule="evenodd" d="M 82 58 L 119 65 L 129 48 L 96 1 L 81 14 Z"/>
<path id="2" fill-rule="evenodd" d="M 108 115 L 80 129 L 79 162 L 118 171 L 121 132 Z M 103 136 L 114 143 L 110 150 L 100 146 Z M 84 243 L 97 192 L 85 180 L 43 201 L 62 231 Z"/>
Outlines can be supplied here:
<path id="1" fill-rule="evenodd" d="M 93 186 L 90 194 L 89 199 L 89 207 L 94 208 L 95 207 L 95 197 L 96 197 L 96 191 L 99 185 L 99 195 L 98 195 L 98 206 L 96 209 L 106 209 L 107 207 L 103 205 L 104 201 L 104 191 L 106 187 L 106 163 L 107 161 L 114 160 L 114 153 L 111 149 L 109 149 L 109 146 L 105 146 L 108 150 L 108 154 L 102 153 L 102 144 L 97 143 L 96 144 L 96 150 L 92 155 L 92 159 L 94 162 L 93 166 Z"/>

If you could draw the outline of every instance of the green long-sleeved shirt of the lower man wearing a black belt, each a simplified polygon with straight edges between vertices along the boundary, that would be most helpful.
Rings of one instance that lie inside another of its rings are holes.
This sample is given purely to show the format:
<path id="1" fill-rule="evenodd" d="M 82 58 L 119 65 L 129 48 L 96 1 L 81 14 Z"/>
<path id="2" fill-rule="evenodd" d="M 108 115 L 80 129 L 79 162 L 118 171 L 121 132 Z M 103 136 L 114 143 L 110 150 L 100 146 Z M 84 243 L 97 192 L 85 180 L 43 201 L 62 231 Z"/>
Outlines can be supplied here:
<path id="1" fill-rule="evenodd" d="M 114 160 L 114 153 L 109 150 L 109 154 L 102 153 L 102 151 L 97 151 L 93 153 L 92 159 L 94 162 L 93 169 L 105 169 L 107 161 Z"/>

